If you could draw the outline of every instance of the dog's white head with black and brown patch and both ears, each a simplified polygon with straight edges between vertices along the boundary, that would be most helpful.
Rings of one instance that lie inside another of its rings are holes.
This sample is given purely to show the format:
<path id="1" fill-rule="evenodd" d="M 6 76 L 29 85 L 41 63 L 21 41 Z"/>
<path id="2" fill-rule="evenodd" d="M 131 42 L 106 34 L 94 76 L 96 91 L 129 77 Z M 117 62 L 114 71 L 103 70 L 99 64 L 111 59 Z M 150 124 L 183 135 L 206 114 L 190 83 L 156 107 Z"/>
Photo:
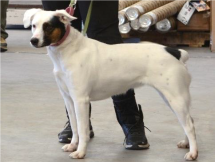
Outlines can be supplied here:
<path id="1" fill-rule="evenodd" d="M 67 25 L 75 19 L 65 10 L 30 9 L 25 12 L 23 23 L 25 28 L 32 26 L 33 36 L 30 42 L 34 47 L 39 48 L 61 40 L 66 32 Z"/>

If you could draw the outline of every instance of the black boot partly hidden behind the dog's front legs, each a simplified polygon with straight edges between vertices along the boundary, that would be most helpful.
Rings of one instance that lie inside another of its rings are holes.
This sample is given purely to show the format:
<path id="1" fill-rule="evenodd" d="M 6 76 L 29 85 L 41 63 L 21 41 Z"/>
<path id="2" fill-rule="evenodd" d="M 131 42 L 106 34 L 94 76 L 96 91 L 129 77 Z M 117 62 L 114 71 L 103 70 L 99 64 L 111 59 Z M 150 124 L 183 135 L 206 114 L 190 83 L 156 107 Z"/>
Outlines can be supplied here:
<path id="1" fill-rule="evenodd" d="M 68 112 L 66 111 L 68 121 L 65 124 L 64 129 L 58 134 L 58 139 L 60 143 L 70 143 L 72 139 L 72 129 L 69 121 L 69 115 Z M 91 116 L 91 104 L 90 104 L 90 116 Z M 91 125 L 90 121 L 90 138 L 94 137 L 94 132 L 93 132 L 93 127 Z"/>

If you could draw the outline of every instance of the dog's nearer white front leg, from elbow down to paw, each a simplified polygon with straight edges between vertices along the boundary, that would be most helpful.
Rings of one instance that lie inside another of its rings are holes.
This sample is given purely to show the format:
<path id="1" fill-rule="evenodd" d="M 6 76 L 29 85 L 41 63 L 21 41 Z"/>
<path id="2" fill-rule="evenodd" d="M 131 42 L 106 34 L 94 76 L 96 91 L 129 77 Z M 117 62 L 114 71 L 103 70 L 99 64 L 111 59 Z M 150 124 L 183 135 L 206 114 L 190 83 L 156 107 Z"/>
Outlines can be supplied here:
<path id="1" fill-rule="evenodd" d="M 82 97 L 83 98 L 83 97 Z M 87 97 L 86 97 L 87 98 Z M 82 159 L 86 155 L 87 144 L 89 142 L 89 100 L 74 100 L 75 113 L 78 125 L 79 144 L 77 151 L 70 154 L 70 157 Z"/>

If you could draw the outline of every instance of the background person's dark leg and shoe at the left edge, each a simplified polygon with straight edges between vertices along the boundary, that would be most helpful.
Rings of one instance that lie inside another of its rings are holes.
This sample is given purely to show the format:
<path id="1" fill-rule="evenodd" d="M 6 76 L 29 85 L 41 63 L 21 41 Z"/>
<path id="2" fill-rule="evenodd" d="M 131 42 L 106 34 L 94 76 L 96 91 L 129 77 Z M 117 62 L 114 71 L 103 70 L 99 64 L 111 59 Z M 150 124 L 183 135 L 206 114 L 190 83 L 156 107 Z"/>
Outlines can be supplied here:
<path id="1" fill-rule="evenodd" d="M 8 7 L 8 0 L 0 1 L 0 52 L 7 50 L 7 43 L 5 39 L 8 37 L 5 31 L 6 27 L 6 12 Z"/>

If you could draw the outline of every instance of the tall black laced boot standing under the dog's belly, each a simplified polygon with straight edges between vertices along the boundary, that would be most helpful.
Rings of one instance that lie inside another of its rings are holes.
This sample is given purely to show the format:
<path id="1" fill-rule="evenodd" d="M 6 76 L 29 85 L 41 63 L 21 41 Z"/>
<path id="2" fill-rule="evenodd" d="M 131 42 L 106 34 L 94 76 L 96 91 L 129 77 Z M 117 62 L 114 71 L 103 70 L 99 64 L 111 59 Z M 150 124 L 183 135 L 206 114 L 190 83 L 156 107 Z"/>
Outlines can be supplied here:
<path id="1" fill-rule="evenodd" d="M 117 120 L 125 134 L 125 148 L 130 150 L 149 148 L 150 145 L 145 135 L 143 113 L 140 105 L 138 105 L 138 110 L 134 91 L 129 90 L 126 94 L 112 98 Z"/>

